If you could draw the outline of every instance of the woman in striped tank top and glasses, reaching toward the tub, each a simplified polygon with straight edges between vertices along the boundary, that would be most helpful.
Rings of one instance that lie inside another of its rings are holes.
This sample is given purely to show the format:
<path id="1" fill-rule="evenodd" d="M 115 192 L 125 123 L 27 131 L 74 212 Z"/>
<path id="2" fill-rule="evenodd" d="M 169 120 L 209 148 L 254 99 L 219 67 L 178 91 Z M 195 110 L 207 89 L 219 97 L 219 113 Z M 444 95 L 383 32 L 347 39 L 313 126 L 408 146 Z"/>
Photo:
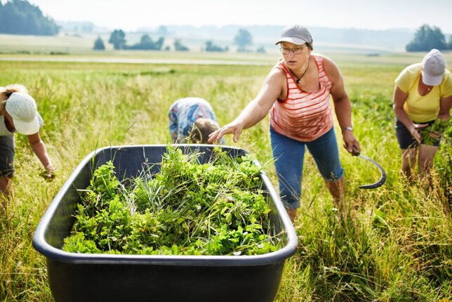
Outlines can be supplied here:
<path id="1" fill-rule="evenodd" d="M 330 95 L 345 149 L 353 155 L 360 148 L 352 132 L 352 106 L 343 77 L 332 60 L 312 53 L 310 32 L 301 25 L 285 27 L 276 44 L 281 46 L 283 58 L 267 75 L 258 96 L 234 121 L 213 132 L 209 141 L 232 133 L 237 142 L 241 131 L 254 126 L 270 112 L 270 138 L 279 193 L 294 221 L 300 206 L 305 147 L 314 157 L 335 206 L 340 205 L 345 192 Z"/>

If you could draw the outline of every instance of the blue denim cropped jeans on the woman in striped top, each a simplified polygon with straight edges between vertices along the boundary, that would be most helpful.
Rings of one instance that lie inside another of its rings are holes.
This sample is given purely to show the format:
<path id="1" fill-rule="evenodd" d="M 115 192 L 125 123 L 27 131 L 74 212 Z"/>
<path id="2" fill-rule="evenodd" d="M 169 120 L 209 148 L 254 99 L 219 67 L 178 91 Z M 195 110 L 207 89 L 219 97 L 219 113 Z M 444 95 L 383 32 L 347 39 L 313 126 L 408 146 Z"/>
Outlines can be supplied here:
<path id="1" fill-rule="evenodd" d="M 344 177 L 333 128 L 316 140 L 303 143 L 276 133 L 270 126 L 270 139 L 279 181 L 279 195 L 286 209 L 297 209 L 300 206 L 305 146 L 326 181 L 337 181 Z"/>

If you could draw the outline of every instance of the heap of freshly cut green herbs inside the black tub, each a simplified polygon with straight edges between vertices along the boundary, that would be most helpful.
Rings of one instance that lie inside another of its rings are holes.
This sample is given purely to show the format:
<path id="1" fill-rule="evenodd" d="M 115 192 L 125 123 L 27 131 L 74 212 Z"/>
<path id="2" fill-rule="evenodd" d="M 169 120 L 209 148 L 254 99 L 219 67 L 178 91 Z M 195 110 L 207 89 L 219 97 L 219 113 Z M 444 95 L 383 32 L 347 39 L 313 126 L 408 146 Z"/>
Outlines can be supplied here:
<path id="1" fill-rule="evenodd" d="M 279 249 L 254 158 L 233 159 L 220 148 L 207 164 L 198 157 L 170 145 L 160 173 L 143 172 L 128 185 L 118 180 L 112 162 L 99 166 L 82 191 L 63 249 L 236 256 Z"/>

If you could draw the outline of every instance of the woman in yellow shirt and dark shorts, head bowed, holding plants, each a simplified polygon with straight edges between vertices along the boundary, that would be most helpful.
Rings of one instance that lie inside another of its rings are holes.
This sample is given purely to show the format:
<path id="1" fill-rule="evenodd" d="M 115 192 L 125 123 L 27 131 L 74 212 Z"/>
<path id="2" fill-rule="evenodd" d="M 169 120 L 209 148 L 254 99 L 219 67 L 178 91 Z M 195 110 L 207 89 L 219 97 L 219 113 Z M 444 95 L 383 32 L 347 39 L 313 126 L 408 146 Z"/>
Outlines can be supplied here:
<path id="1" fill-rule="evenodd" d="M 418 172 L 425 176 L 438 150 L 437 137 L 433 145 L 426 145 L 420 132 L 436 119 L 448 121 L 452 103 L 452 76 L 446 60 L 432 49 L 422 63 L 406 67 L 395 80 L 394 113 L 396 136 L 402 152 L 401 171 L 413 180 L 418 156 Z"/>

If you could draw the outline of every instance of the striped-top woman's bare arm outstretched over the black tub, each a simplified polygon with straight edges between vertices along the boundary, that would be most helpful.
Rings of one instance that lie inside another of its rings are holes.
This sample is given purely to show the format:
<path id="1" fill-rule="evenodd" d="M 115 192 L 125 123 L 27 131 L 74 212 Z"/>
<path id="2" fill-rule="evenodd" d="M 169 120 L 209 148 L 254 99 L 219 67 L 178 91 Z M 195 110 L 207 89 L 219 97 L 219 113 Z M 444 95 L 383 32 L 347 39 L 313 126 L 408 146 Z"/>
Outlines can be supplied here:
<path id="1" fill-rule="evenodd" d="M 254 126 L 267 115 L 273 103 L 280 96 L 283 87 L 282 85 L 284 85 L 285 81 L 286 78 L 281 70 L 274 68 L 267 75 L 258 96 L 246 105 L 244 110 L 242 110 L 234 121 L 211 133 L 208 139 L 209 143 L 212 143 L 214 140 L 219 140 L 225 134 L 229 133 L 234 134 L 234 142 L 237 143 L 241 131 Z"/>

